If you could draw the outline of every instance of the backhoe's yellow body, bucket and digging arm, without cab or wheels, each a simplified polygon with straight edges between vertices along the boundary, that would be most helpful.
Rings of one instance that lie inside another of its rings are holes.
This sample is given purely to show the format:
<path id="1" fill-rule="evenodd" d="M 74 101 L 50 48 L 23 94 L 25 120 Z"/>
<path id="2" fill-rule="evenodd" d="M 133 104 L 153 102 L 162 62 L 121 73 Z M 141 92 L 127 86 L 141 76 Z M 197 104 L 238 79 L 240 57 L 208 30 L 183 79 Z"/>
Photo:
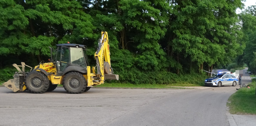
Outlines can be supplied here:
<path id="1" fill-rule="evenodd" d="M 118 80 L 119 77 L 116 74 L 113 74 L 113 69 L 111 68 L 110 63 L 110 51 L 108 44 L 108 33 L 106 31 L 102 31 L 102 37 L 99 40 L 99 47 L 95 52 L 95 60 L 96 67 L 86 66 L 86 74 L 82 74 L 82 76 L 86 79 L 87 87 L 92 87 L 96 85 L 100 85 L 104 83 L 106 79 L 109 80 Z M 67 63 L 67 62 L 64 62 Z M 22 66 L 17 66 L 13 64 L 18 70 L 13 76 L 14 79 L 10 79 L 9 81 L 3 83 L 8 89 L 11 89 L 14 92 L 24 91 L 26 89 L 25 86 L 25 77 L 28 72 L 25 72 L 25 63 L 22 62 Z M 19 68 L 22 67 L 22 70 Z M 30 67 L 30 66 L 28 66 Z M 30 67 L 32 70 L 32 67 Z M 31 72 L 30 70 L 30 72 Z M 40 63 L 38 66 L 34 67 L 33 71 L 42 72 L 46 75 L 51 82 L 51 84 L 62 84 L 63 78 L 69 72 L 66 72 L 62 75 L 58 75 L 58 63 L 51 61 L 48 63 Z M 76 72 L 76 70 L 72 70 L 70 72 Z"/>

